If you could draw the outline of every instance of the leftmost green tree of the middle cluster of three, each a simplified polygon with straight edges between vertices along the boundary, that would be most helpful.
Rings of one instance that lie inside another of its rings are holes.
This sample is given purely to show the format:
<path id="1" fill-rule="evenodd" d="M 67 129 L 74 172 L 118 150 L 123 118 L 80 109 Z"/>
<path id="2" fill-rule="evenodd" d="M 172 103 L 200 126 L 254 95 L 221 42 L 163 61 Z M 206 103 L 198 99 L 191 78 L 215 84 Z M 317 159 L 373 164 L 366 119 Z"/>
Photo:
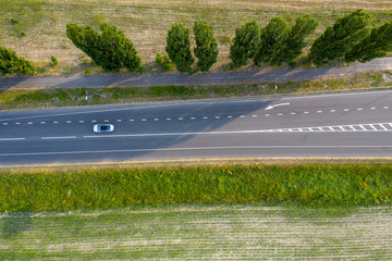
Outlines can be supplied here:
<path id="1" fill-rule="evenodd" d="M 235 37 L 230 47 L 230 59 L 235 67 L 247 64 L 253 59 L 260 45 L 260 28 L 255 21 L 248 22 L 235 29 Z"/>

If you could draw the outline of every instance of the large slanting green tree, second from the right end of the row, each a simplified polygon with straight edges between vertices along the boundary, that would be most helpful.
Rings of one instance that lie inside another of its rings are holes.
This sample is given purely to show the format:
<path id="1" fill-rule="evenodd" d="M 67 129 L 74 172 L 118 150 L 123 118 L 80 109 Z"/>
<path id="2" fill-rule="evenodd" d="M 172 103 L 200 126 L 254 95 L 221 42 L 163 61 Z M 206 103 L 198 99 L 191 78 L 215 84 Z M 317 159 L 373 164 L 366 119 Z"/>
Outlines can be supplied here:
<path id="1" fill-rule="evenodd" d="M 315 40 L 310 59 L 317 66 L 333 61 L 343 61 L 346 53 L 368 36 L 371 15 L 357 10 L 336 20 L 332 27 Z"/>

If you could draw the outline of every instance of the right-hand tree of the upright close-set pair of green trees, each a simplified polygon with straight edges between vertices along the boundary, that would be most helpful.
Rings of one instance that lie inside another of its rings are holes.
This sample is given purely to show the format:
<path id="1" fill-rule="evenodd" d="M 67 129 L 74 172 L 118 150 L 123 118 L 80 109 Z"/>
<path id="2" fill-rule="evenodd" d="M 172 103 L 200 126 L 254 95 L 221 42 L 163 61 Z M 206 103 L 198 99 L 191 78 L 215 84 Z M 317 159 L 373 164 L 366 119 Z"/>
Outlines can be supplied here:
<path id="1" fill-rule="evenodd" d="M 213 27 L 207 21 L 195 21 L 194 34 L 196 48 L 194 49 L 197 57 L 197 66 L 201 72 L 208 72 L 218 59 L 218 44 L 213 36 Z"/>

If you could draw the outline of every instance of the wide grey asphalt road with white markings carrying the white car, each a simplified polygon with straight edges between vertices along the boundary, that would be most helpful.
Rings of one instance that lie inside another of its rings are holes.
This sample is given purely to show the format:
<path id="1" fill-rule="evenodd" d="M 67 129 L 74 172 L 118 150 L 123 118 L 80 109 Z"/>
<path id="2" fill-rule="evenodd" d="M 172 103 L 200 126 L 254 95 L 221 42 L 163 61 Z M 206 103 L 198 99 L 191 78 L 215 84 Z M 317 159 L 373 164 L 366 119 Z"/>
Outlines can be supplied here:
<path id="1" fill-rule="evenodd" d="M 0 113 L 0 164 L 391 156 L 391 90 Z"/>

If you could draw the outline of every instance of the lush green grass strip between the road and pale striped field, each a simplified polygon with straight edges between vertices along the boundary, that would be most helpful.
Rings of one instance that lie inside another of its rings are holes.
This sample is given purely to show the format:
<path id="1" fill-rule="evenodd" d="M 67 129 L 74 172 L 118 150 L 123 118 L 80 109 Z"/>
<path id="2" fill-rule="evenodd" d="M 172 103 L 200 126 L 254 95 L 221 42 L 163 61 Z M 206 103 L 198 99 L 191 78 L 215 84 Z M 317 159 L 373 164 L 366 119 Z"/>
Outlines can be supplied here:
<path id="1" fill-rule="evenodd" d="M 392 165 L 167 166 L 0 175 L 0 211 L 179 203 L 390 203 Z"/>

